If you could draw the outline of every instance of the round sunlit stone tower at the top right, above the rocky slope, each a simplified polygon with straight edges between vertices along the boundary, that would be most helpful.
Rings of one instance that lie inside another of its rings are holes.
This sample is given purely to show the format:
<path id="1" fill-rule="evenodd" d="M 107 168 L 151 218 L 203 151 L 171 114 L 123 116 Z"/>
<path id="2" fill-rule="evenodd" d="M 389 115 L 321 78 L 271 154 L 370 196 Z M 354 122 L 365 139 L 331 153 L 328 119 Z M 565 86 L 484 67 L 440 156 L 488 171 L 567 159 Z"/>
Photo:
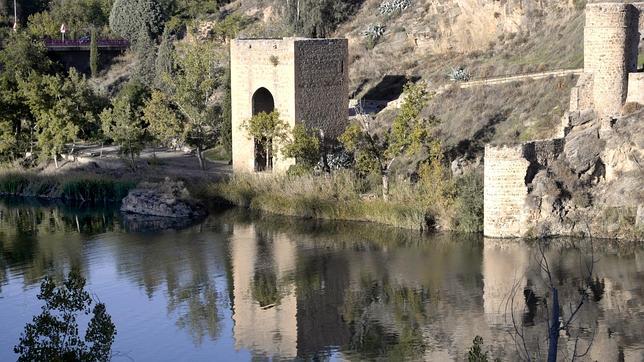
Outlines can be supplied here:
<path id="1" fill-rule="evenodd" d="M 586 6 L 584 70 L 593 74 L 593 103 L 601 116 L 618 114 L 637 69 L 639 11 L 630 4 Z"/>

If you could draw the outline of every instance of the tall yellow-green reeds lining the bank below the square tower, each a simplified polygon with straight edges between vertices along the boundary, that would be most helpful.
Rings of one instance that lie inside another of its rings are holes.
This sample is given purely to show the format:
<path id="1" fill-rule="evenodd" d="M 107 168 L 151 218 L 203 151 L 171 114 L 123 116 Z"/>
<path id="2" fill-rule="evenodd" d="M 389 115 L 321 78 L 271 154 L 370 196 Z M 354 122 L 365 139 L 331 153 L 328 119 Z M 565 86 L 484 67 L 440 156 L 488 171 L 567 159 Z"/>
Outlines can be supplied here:
<path id="1" fill-rule="evenodd" d="M 395 179 L 389 201 L 378 196 L 378 187 L 367 191 L 364 180 L 349 171 L 325 176 L 238 174 L 209 185 L 201 197 L 280 215 L 369 221 L 416 230 L 449 228 L 451 210 L 440 206 L 450 202 L 441 200 L 443 196 L 429 197 L 427 183 Z"/>

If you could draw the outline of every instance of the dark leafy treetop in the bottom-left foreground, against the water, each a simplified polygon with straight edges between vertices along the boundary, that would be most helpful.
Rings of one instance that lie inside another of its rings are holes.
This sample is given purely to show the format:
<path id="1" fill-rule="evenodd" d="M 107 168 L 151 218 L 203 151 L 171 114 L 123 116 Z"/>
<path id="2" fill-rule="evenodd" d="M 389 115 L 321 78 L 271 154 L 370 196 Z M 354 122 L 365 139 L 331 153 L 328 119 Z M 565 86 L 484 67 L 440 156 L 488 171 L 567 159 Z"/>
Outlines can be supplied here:
<path id="1" fill-rule="evenodd" d="M 45 302 L 42 313 L 27 323 L 14 352 L 18 361 L 109 361 L 116 326 L 105 304 L 96 303 L 85 291 L 85 279 L 77 269 L 56 285 L 47 277 L 38 299 Z M 85 337 L 78 331 L 78 315 L 89 315 Z"/>

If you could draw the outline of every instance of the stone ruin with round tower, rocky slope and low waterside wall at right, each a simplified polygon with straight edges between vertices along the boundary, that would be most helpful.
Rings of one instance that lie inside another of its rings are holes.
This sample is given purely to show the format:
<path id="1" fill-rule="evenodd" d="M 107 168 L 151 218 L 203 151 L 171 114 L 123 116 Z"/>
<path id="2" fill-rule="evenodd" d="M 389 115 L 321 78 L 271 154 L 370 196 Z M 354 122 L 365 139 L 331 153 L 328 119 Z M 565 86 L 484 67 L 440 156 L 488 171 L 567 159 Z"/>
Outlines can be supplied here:
<path id="1" fill-rule="evenodd" d="M 560 138 L 486 146 L 486 236 L 613 236 L 618 226 L 602 221 L 608 208 L 637 210 L 642 222 L 643 11 L 644 2 L 586 7 L 584 73 Z"/>

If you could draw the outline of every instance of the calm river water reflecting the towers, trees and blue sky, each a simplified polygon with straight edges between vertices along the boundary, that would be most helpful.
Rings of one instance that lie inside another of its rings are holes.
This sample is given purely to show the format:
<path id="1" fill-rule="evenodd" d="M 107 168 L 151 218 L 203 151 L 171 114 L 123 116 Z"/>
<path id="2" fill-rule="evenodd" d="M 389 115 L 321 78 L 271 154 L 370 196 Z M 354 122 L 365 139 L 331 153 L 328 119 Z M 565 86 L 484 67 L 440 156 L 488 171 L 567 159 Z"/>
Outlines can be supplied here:
<path id="1" fill-rule="evenodd" d="M 543 360 L 550 293 L 540 250 L 562 320 L 583 301 L 560 357 L 592 342 L 582 360 L 644 360 L 641 246 L 540 247 L 239 211 L 180 231 L 154 231 L 161 224 L 0 201 L 0 361 L 16 359 L 40 312 L 43 276 L 72 266 L 112 315 L 116 361 L 463 360 L 477 335 L 490 357 L 516 360 L 519 334 Z"/>

